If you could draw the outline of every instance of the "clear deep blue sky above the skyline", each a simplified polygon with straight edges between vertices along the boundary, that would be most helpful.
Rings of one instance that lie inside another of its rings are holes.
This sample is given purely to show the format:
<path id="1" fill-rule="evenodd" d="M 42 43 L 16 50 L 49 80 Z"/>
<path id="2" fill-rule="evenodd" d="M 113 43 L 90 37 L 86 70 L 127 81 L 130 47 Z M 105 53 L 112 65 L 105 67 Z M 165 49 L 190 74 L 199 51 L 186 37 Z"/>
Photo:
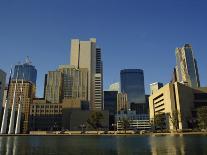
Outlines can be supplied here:
<path id="1" fill-rule="evenodd" d="M 69 63 L 70 40 L 96 37 L 105 89 L 121 69 L 141 68 L 149 92 L 170 81 L 175 48 L 191 43 L 207 86 L 206 8 L 205 0 L 1 0 L 0 68 L 30 56 L 41 97 L 44 74 Z"/>

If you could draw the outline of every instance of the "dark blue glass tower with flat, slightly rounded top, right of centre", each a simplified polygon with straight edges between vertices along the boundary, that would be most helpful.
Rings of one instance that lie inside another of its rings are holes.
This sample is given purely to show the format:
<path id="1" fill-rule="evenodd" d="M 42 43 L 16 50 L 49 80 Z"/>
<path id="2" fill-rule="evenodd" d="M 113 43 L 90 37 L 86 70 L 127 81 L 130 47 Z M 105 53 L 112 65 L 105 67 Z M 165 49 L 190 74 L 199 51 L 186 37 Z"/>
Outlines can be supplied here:
<path id="1" fill-rule="evenodd" d="M 121 92 L 127 94 L 128 103 L 145 103 L 144 72 L 141 69 L 121 70 Z"/>

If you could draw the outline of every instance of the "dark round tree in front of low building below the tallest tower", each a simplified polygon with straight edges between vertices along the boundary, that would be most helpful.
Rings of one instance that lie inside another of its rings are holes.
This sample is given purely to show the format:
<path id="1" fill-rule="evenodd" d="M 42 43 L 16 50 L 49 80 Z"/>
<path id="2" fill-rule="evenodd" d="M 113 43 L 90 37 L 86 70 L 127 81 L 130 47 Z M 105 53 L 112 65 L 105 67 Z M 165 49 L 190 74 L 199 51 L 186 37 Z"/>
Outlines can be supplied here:
<path id="1" fill-rule="evenodd" d="M 87 120 L 87 123 L 97 131 L 99 131 L 99 128 L 102 127 L 101 120 L 103 119 L 103 114 L 99 111 L 95 111 L 91 114 L 90 118 Z"/>

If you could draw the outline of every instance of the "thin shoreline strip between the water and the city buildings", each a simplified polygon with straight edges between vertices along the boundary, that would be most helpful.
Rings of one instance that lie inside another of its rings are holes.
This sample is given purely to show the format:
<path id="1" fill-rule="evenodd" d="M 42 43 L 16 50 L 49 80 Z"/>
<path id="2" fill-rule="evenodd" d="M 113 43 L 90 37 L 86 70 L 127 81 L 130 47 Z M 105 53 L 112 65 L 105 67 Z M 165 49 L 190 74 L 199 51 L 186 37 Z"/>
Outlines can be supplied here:
<path id="1" fill-rule="evenodd" d="M 47 134 L 0 134 L 0 137 L 15 137 L 15 136 L 25 136 L 25 137 L 35 137 L 35 136 L 113 136 L 113 137 L 118 137 L 118 136 L 183 136 L 183 135 L 203 135 L 207 136 L 207 132 L 184 132 L 184 133 L 145 133 L 145 134 L 130 134 L 130 133 L 117 133 L 117 134 L 97 134 L 97 133 L 86 133 L 86 134 L 81 134 L 81 133 L 71 133 L 71 134 L 55 134 L 55 133 L 47 133 Z"/>

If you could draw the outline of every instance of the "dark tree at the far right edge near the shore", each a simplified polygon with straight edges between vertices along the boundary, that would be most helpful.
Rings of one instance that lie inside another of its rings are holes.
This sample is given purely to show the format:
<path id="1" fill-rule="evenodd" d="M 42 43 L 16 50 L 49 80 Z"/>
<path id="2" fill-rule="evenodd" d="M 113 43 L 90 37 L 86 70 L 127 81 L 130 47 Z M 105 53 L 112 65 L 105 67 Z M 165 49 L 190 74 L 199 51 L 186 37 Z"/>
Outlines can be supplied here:
<path id="1" fill-rule="evenodd" d="M 201 107 L 197 109 L 198 126 L 200 129 L 206 129 L 207 127 L 207 107 Z"/>

